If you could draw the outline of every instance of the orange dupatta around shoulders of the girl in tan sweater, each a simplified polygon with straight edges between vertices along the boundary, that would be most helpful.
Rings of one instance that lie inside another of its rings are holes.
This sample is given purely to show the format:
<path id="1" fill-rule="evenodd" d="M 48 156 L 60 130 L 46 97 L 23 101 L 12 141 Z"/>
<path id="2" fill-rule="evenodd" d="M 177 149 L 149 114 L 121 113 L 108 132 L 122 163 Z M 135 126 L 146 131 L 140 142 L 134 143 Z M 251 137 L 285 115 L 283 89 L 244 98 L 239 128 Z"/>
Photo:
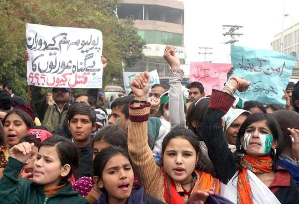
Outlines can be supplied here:
<path id="1" fill-rule="evenodd" d="M 175 184 L 172 179 L 165 173 L 164 168 L 161 168 L 164 175 L 164 199 L 168 204 L 185 204 L 184 199 L 177 193 Z M 214 188 L 214 193 L 219 195 L 220 182 L 218 179 L 213 178 L 210 174 L 205 172 L 196 171 L 199 175 L 196 182 L 192 187 L 192 192 L 196 190 L 205 191 Z M 199 189 L 200 188 L 200 189 Z"/>

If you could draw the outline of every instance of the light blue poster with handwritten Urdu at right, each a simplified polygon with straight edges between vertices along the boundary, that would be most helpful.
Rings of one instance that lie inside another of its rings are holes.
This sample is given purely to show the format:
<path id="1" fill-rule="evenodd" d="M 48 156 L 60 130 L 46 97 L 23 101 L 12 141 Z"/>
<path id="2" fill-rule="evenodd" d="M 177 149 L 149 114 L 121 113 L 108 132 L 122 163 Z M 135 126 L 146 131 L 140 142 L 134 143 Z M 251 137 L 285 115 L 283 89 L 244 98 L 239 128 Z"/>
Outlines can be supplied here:
<path id="1" fill-rule="evenodd" d="M 273 50 L 231 46 L 235 71 L 231 77 L 242 76 L 251 81 L 247 92 L 235 93 L 243 101 L 280 103 L 286 105 L 286 89 L 295 67 L 296 57 Z"/>

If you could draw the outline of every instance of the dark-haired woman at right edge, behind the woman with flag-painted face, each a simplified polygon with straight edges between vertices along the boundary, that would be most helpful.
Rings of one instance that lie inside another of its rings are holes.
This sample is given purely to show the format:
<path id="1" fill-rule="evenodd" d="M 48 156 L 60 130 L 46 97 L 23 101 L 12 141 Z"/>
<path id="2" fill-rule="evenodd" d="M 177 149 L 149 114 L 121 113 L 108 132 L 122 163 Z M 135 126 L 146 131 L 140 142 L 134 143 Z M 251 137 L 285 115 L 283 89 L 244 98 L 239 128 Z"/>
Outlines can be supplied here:
<path id="1" fill-rule="evenodd" d="M 297 139 L 296 137 L 292 141 L 290 131 L 288 130 L 288 128 L 299 129 L 299 113 L 293 110 L 278 110 L 272 113 L 272 115 L 279 122 L 285 138 L 283 151 L 276 162 L 276 166 L 289 170 L 299 189 L 299 145 L 295 140 Z"/>

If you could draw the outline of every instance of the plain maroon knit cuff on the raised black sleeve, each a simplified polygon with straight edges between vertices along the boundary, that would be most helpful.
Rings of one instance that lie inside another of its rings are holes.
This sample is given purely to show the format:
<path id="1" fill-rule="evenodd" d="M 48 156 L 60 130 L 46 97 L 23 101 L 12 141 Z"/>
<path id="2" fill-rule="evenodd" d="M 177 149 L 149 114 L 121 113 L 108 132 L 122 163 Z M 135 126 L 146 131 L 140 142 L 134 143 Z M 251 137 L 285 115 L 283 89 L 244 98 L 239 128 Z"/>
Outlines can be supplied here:
<path id="1" fill-rule="evenodd" d="M 213 89 L 209 107 L 226 113 L 233 105 L 235 100 L 235 97 L 229 95 L 228 93 Z"/>

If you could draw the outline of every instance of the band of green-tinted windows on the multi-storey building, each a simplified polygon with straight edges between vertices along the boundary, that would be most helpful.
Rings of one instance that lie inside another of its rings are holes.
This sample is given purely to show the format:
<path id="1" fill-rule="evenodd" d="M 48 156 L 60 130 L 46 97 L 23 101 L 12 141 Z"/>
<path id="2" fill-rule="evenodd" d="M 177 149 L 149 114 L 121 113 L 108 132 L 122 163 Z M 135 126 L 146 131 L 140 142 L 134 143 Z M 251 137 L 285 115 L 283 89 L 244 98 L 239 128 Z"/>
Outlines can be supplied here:
<path id="1" fill-rule="evenodd" d="M 182 45 L 182 34 L 158 30 L 139 30 L 138 34 L 146 40 L 147 44 L 163 44 L 173 46 Z"/>

